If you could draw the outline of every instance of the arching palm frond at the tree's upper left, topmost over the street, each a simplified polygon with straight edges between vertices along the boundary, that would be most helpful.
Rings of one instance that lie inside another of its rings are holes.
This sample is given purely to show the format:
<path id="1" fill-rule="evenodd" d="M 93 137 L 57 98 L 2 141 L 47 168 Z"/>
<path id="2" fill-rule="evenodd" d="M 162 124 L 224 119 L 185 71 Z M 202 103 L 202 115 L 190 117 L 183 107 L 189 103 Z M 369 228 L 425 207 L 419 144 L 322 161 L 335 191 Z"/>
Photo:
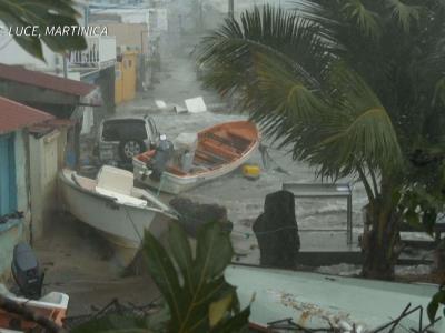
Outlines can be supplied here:
<path id="1" fill-rule="evenodd" d="M 261 52 L 293 65 L 310 85 L 319 85 L 328 54 L 325 41 L 317 32 L 316 24 L 294 12 L 270 6 L 263 9 L 256 7 L 251 12 L 241 14 L 240 21 L 227 19 L 222 28 L 205 38 L 199 47 L 198 62 L 217 69 L 218 74 L 221 71 L 239 72 L 251 79 L 251 54 L 254 51 Z M 229 89 L 221 83 L 233 87 L 239 79 L 240 75 L 237 75 L 226 82 L 219 75 L 210 75 L 205 81 L 226 93 Z"/>

